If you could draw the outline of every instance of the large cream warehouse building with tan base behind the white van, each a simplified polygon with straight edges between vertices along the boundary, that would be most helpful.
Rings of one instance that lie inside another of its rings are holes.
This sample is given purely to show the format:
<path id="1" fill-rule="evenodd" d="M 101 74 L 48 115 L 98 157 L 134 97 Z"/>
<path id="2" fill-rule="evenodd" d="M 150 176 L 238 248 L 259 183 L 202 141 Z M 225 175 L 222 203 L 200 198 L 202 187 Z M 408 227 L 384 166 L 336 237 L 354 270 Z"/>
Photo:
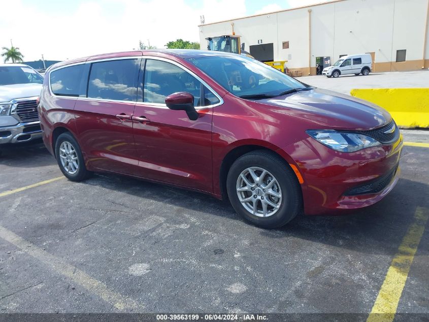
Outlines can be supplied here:
<path id="1" fill-rule="evenodd" d="M 241 36 L 260 61 L 287 61 L 289 70 L 316 75 L 316 65 L 371 53 L 373 71 L 429 68 L 429 0 L 337 0 L 199 26 L 208 37 Z"/>

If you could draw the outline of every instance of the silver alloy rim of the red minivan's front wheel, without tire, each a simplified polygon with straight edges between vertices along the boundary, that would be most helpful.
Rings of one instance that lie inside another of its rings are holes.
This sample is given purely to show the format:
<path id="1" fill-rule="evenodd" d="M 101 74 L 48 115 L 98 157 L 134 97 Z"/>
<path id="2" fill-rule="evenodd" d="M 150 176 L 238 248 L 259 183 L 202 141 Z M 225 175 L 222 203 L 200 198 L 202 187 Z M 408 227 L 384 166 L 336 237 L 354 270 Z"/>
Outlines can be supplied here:
<path id="1" fill-rule="evenodd" d="M 250 214 L 273 216 L 282 203 L 282 192 L 274 175 L 260 167 L 250 167 L 237 179 L 237 196 Z"/>

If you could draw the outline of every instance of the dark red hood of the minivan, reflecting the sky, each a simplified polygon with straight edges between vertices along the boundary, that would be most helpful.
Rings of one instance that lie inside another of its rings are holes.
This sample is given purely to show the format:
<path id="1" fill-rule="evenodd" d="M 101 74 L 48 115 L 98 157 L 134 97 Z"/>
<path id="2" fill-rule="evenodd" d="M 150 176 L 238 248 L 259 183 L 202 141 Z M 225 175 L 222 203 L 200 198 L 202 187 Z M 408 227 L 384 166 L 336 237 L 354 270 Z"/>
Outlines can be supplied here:
<path id="1" fill-rule="evenodd" d="M 311 122 L 314 129 L 370 130 L 391 121 L 390 114 L 375 104 L 321 89 L 257 102 Z"/>

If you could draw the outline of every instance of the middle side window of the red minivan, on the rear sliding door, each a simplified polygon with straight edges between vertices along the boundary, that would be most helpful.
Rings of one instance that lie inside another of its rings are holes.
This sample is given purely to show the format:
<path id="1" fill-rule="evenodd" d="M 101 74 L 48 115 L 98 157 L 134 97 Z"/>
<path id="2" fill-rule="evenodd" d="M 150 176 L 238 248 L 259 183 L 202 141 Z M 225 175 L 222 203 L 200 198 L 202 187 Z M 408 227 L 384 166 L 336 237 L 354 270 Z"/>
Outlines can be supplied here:
<path id="1" fill-rule="evenodd" d="M 88 82 L 88 97 L 135 101 L 137 59 L 93 63 Z"/>

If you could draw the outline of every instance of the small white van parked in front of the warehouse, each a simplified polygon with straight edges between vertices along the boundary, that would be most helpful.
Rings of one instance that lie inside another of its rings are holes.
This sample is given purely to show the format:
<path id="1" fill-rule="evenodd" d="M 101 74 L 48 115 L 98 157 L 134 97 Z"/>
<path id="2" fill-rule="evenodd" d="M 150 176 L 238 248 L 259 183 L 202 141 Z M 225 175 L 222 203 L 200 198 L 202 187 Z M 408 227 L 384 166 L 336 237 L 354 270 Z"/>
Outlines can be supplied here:
<path id="1" fill-rule="evenodd" d="M 347 55 L 341 57 L 334 65 L 324 68 L 322 75 L 326 77 L 339 77 L 349 74 L 366 76 L 371 72 L 371 66 L 371 54 Z"/>

